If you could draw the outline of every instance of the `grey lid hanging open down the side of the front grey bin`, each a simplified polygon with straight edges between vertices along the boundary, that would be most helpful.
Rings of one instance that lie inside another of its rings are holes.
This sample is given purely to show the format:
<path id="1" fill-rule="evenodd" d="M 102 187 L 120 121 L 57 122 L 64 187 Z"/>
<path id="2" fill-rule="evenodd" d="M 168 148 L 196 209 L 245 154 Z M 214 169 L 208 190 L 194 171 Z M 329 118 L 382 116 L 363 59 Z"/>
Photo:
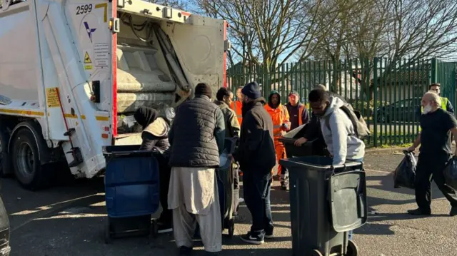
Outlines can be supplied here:
<path id="1" fill-rule="evenodd" d="M 364 171 L 336 173 L 328 180 L 328 188 L 331 220 L 336 232 L 347 232 L 365 224 L 368 218 L 368 205 Z"/>

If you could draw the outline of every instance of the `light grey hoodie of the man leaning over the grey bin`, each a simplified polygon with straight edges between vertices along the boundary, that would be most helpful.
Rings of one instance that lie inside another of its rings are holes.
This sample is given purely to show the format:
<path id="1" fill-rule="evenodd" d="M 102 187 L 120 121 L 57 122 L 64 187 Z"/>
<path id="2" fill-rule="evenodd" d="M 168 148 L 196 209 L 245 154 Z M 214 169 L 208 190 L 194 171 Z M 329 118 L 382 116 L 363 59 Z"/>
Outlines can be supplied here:
<path id="1" fill-rule="evenodd" d="M 341 165 L 346 160 L 358 160 L 365 155 L 365 143 L 354 134 L 351 119 L 340 108 L 344 102 L 340 98 L 330 97 L 330 106 L 321 118 L 323 139 L 327 150 L 333 155 L 333 165 Z M 326 125 L 326 119 L 330 130 Z"/>

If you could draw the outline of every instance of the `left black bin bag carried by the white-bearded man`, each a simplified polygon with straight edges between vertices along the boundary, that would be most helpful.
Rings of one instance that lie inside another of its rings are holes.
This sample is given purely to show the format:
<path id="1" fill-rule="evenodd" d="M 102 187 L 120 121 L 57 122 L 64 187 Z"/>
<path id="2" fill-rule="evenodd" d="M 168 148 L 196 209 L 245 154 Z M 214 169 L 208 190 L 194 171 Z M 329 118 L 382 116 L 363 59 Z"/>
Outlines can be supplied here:
<path id="1" fill-rule="evenodd" d="M 414 188 L 417 161 L 413 152 L 403 150 L 405 157 L 393 173 L 393 188 Z"/>

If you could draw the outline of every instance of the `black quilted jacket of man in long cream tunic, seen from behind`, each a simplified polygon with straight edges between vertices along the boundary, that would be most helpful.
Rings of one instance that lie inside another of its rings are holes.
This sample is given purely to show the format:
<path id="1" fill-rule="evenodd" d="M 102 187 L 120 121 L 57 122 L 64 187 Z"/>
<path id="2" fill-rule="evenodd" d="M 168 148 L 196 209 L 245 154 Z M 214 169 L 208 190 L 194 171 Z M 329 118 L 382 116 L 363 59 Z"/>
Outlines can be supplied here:
<path id="1" fill-rule="evenodd" d="M 169 133 L 172 167 L 219 167 L 224 150 L 224 115 L 208 96 L 182 103 Z"/>

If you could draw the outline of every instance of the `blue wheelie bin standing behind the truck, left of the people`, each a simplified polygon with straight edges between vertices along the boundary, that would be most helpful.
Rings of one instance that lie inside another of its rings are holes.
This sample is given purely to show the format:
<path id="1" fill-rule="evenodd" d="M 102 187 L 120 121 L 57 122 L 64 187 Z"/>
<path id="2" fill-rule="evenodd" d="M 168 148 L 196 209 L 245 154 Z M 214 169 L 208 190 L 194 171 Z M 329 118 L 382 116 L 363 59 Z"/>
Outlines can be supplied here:
<path id="1" fill-rule="evenodd" d="M 103 148 L 106 159 L 105 201 L 108 213 L 105 242 L 111 238 L 156 235 L 151 215 L 159 210 L 159 163 L 139 145 Z"/>

